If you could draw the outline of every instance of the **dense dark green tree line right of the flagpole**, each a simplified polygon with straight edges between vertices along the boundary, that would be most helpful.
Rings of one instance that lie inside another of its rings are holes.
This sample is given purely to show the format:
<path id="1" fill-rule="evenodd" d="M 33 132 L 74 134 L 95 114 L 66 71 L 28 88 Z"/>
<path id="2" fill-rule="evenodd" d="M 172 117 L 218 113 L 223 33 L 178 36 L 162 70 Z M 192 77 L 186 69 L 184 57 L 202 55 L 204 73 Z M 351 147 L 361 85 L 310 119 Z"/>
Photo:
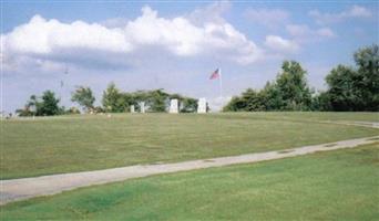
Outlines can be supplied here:
<path id="1" fill-rule="evenodd" d="M 224 112 L 259 110 L 379 110 L 379 48 L 377 44 L 354 54 L 356 66 L 339 64 L 326 76 L 327 90 L 315 93 L 307 72 L 296 61 L 285 61 L 281 72 L 260 91 L 247 88 L 234 96 Z"/>

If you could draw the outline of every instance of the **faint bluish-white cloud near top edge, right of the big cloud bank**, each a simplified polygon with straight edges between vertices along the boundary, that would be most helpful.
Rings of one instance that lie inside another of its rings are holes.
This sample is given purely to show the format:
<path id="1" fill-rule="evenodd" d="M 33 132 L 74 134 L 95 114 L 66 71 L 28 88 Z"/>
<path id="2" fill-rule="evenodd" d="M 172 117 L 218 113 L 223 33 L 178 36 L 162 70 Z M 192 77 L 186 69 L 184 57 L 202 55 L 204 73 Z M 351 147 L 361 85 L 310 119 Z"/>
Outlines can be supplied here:
<path id="1" fill-rule="evenodd" d="M 274 28 L 284 24 L 289 20 L 289 12 L 281 9 L 247 9 L 245 18 L 254 23 Z"/>

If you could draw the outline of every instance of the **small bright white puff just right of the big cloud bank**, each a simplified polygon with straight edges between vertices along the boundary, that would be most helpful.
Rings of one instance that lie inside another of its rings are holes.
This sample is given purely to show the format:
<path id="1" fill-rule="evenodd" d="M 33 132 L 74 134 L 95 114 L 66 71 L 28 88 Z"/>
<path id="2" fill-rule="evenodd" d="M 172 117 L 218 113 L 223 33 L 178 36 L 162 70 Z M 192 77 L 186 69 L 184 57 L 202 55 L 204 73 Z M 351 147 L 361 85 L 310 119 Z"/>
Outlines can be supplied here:
<path id="1" fill-rule="evenodd" d="M 265 45 L 274 51 L 284 53 L 294 53 L 299 50 L 299 45 L 295 41 L 286 40 L 277 35 L 267 35 Z"/>

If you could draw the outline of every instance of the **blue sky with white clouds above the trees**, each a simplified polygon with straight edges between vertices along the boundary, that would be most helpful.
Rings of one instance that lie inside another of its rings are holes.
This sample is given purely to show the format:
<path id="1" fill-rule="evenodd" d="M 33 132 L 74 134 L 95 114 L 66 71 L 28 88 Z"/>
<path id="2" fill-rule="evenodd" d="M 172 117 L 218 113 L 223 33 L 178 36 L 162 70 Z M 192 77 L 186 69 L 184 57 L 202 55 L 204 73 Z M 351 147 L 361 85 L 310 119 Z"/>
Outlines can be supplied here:
<path id="1" fill-rule="evenodd" d="M 1 107 L 75 86 L 96 105 L 113 82 L 205 97 L 213 110 L 298 61 L 315 91 L 359 48 L 378 44 L 378 1 L 1 1 Z M 211 74 L 222 70 L 219 80 Z"/>

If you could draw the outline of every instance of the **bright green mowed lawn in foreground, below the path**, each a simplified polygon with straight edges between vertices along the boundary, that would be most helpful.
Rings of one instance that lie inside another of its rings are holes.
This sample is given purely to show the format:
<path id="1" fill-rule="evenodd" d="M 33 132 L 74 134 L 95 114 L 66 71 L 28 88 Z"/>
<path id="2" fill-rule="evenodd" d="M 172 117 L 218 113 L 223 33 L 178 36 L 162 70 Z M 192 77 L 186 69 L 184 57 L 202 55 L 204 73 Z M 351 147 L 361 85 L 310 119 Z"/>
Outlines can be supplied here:
<path id="1" fill-rule="evenodd" d="M 379 143 L 1 207 L 2 220 L 378 220 Z"/>

